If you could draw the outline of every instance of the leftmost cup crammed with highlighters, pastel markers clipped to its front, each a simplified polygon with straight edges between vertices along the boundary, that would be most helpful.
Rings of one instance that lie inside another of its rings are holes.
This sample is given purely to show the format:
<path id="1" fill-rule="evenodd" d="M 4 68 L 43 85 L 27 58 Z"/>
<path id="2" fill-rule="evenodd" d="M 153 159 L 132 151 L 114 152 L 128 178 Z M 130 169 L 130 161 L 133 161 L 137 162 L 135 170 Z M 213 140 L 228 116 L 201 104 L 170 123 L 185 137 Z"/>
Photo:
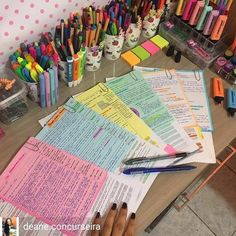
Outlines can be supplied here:
<path id="1" fill-rule="evenodd" d="M 40 42 L 21 43 L 9 60 L 32 101 L 39 102 L 42 108 L 57 103 L 59 57 L 50 33 L 44 33 Z"/>

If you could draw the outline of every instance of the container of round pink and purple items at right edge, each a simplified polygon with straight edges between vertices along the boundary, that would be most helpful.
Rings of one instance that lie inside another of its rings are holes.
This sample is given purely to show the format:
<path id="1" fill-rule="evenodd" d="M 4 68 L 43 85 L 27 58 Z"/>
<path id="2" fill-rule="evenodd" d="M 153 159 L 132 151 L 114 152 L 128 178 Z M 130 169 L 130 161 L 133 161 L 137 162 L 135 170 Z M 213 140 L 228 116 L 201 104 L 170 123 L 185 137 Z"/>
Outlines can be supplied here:
<path id="1" fill-rule="evenodd" d="M 236 85 L 236 55 L 227 50 L 225 55 L 218 57 L 214 64 L 215 71 L 229 83 Z"/>

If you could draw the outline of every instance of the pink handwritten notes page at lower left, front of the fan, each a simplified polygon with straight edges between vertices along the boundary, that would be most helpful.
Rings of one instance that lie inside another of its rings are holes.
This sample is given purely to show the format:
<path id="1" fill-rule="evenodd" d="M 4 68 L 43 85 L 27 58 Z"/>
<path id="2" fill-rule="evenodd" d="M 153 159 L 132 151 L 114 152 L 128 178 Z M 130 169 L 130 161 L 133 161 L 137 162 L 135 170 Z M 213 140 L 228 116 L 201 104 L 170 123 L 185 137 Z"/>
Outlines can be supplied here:
<path id="1" fill-rule="evenodd" d="M 30 138 L 0 176 L 0 198 L 49 225 L 79 225 L 107 178 L 102 168 Z M 61 230 L 67 235 L 80 231 Z"/>

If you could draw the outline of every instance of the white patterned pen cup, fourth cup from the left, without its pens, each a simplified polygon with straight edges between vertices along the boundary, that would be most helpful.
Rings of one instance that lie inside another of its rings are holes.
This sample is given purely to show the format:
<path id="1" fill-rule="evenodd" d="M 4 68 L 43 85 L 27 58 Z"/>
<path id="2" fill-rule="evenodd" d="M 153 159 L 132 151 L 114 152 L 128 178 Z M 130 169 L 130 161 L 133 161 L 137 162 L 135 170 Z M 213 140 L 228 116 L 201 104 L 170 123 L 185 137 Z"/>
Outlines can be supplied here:
<path id="1" fill-rule="evenodd" d="M 124 34 L 105 34 L 104 55 L 108 60 L 117 60 L 120 57 L 124 44 Z"/>

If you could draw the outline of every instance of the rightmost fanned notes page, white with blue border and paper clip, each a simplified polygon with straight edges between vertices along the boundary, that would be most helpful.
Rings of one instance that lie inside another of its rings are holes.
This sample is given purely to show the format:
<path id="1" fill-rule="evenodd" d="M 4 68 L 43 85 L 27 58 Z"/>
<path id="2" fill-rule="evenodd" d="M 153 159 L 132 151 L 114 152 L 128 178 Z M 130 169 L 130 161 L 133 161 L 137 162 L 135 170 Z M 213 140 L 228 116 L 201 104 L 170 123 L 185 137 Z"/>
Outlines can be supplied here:
<path id="1" fill-rule="evenodd" d="M 183 84 L 197 123 L 203 131 L 212 131 L 211 111 L 203 72 L 201 70 L 178 70 L 176 73 Z"/>

